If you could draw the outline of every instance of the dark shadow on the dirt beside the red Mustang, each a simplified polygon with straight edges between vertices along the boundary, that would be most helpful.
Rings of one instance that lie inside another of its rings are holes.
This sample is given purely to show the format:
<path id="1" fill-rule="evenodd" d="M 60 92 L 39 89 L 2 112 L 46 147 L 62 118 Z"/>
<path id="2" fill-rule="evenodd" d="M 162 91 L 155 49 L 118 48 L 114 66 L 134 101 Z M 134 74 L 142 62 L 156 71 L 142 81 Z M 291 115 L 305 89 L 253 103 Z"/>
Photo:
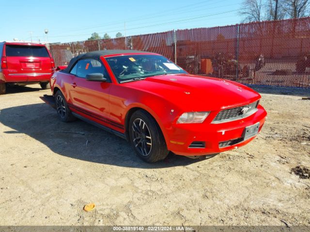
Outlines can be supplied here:
<path id="1" fill-rule="evenodd" d="M 186 166 L 201 161 L 170 153 L 165 160 L 146 163 L 136 156 L 129 142 L 82 120 L 64 123 L 46 103 L 2 109 L 0 123 L 10 128 L 4 133 L 27 134 L 54 153 L 78 160 L 143 169 Z"/>

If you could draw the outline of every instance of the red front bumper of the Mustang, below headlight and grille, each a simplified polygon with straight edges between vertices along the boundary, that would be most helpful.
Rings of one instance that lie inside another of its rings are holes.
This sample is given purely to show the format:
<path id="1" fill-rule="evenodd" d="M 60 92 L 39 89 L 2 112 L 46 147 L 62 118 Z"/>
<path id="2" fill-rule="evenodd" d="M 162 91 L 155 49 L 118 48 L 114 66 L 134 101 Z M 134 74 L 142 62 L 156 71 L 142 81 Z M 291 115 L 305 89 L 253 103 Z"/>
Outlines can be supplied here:
<path id="1" fill-rule="evenodd" d="M 261 105 L 257 109 L 257 112 L 251 116 L 226 123 L 176 124 L 169 131 L 168 149 L 177 155 L 199 156 L 219 153 L 246 145 L 255 136 L 243 140 L 245 128 L 259 122 L 259 131 L 261 131 L 267 115 Z M 235 143 L 231 143 L 233 145 L 219 147 L 219 143 L 231 140 L 235 141 Z M 189 147 L 195 141 L 204 142 L 205 147 Z"/>

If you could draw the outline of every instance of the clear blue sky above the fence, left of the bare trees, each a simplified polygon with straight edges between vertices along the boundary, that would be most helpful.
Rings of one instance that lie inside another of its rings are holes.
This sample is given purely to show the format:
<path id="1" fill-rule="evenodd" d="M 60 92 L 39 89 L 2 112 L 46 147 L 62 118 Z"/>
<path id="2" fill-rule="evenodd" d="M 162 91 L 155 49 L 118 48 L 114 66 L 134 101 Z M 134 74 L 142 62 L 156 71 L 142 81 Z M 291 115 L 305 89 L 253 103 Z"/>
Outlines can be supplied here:
<path id="1" fill-rule="evenodd" d="M 0 41 L 86 40 L 241 22 L 241 0 L 0 0 Z M 44 30 L 48 29 L 48 38 Z M 32 32 L 31 32 L 32 31 Z"/>

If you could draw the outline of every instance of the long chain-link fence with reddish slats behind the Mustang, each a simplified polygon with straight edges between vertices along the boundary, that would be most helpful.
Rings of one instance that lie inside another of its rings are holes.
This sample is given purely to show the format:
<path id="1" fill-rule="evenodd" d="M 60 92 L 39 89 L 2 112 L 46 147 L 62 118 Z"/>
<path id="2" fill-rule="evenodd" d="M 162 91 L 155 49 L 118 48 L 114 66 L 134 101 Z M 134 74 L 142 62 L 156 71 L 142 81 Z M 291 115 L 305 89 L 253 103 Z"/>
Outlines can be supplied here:
<path id="1" fill-rule="evenodd" d="M 310 17 L 50 44 L 57 65 L 104 49 L 159 53 L 189 73 L 243 84 L 310 87 Z"/>

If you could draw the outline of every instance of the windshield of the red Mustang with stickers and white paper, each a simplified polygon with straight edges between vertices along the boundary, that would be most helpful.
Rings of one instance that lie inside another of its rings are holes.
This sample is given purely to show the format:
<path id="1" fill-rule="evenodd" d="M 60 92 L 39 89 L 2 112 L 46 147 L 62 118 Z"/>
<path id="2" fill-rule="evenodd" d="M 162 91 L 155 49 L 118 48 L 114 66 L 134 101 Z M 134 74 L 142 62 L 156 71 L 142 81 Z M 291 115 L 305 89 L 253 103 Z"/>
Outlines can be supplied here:
<path id="1" fill-rule="evenodd" d="M 106 59 L 120 83 L 154 75 L 186 73 L 169 59 L 158 55 L 129 55 Z"/>

